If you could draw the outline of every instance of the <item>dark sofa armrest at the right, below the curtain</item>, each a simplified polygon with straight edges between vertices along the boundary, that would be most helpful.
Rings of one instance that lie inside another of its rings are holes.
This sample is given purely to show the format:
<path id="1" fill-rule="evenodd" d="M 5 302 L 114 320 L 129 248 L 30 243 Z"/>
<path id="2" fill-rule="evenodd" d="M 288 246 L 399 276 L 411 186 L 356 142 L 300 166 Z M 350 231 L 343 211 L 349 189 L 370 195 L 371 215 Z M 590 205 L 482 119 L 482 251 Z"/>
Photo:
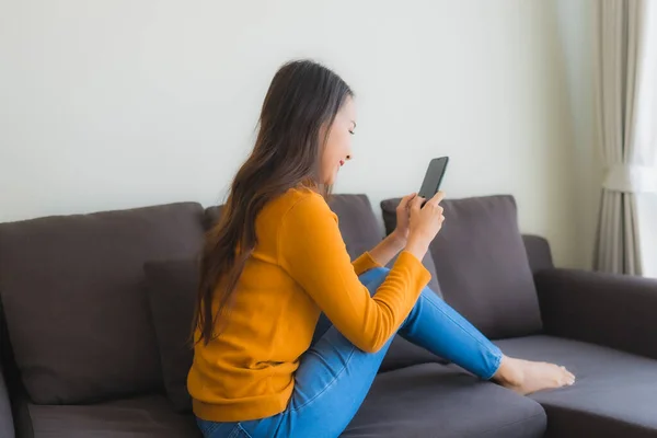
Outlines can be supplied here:
<path id="1" fill-rule="evenodd" d="M 534 280 L 548 334 L 657 359 L 657 280 L 575 269 Z"/>

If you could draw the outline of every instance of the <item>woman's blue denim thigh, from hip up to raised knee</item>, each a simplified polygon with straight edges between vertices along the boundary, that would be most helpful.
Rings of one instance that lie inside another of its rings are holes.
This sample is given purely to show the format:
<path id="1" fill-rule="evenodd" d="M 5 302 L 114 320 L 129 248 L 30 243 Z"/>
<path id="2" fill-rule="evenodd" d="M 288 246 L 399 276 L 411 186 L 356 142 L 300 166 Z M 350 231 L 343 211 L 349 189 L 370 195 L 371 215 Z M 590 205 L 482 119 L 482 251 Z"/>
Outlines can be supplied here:
<path id="1" fill-rule="evenodd" d="M 388 269 L 372 269 L 360 278 L 374 293 L 379 279 L 387 275 Z M 324 315 L 321 318 L 313 344 L 295 373 L 287 408 L 272 417 L 241 423 L 199 420 L 201 430 L 204 431 L 206 438 L 336 438 L 343 433 L 362 404 L 392 341 L 377 353 L 365 353 Z"/>

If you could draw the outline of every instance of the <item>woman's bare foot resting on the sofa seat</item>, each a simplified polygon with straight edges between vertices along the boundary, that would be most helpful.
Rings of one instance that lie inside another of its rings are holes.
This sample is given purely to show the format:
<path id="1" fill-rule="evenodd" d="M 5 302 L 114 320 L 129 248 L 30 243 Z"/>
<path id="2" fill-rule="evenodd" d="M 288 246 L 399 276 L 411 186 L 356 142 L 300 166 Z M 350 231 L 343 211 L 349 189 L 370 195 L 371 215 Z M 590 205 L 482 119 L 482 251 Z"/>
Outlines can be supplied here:
<path id="1" fill-rule="evenodd" d="M 541 390 L 572 385 L 575 383 L 575 376 L 558 365 L 503 356 L 493 380 L 521 395 L 527 395 Z"/>

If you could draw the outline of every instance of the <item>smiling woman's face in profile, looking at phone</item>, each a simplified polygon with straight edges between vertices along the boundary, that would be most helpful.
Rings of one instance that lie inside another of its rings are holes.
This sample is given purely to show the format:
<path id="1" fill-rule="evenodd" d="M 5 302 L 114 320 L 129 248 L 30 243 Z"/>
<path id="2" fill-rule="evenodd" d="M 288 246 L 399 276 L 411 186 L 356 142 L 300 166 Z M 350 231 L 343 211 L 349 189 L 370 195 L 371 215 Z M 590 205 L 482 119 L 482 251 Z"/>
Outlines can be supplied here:
<path id="1" fill-rule="evenodd" d="M 328 129 L 328 138 L 322 155 L 321 178 L 323 184 L 334 184 L 339 168 L 351 159 L 354 129 L 356 129 L 356 105 L 354 100 L 347 96 Z M 323 136 L 322 132 L 320 138 Z"/>

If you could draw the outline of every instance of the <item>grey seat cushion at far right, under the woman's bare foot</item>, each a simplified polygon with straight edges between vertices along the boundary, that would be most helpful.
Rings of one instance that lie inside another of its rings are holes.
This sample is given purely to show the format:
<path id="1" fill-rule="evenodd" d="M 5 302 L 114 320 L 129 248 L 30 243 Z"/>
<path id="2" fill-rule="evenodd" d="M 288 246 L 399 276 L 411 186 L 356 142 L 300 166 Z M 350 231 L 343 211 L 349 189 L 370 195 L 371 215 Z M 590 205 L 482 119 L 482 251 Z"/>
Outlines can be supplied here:
<path id="1" fill-rule="evenodd" d="M 505 354 L 568 368 L 573 387 L 532 399 L 551 437 L 657 437 L 657 360 L 552 336 L 499 341 Z"/>

